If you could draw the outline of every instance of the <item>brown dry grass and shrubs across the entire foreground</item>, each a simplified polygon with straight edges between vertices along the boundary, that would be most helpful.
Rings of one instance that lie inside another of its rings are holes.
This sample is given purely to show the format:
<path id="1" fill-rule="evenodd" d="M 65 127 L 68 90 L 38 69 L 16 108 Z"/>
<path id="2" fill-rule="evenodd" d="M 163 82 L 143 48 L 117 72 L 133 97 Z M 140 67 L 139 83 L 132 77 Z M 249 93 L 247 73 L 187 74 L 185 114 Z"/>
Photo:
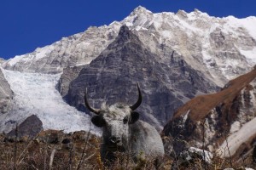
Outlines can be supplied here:
<path id="1" fill-rule="evenodd" d="M 45 132 L 44 132 L 45 133 Z M 50 132 L 48 132 L 50 133 Z M 45 138 L 50 134 L 45 133 Z M 43 137 L 41 136 L 41 139 Z M 3 142 L 4 135 L 0 135 L 0 169 L 171 169 L 173 159 L 170 156 L 163 156 L 157 159 L 153 157 L 139 157 L 133 161 L 131 156 L 119 153 L 118 158 L 109 167 L 104 167 L 100 158 L 100 141 L 96 136 L 79 132 L 73 134 L 61 133 L 60 139 L 70 139 L 71 144 L 49 144 L 38 139 L 23 139 L 22 142 Z M 43 140 L 43 139 L 42 139 Z M 17 149 L 15 150 L 15 144 Z M 15 158 L 16 156 L 16 158 Z M 52 165 L 50 160 L 52 158 Z M 16 160 L 16 163 L 15 163 Z M 207 165 L 207 169 L 224 169 L 230 167 L 230 161 L 214 156 L 212 165 Z M 248 155 L 243 161 L 234 164 L 234 168 L 255 167 L 253 160 Z M 204 162 L 200 158 L 195 158 L 193 162 L 187 162 L 178 169 L 205 169 Z M 242 168 L 241 168 L 242 169 Z"/>

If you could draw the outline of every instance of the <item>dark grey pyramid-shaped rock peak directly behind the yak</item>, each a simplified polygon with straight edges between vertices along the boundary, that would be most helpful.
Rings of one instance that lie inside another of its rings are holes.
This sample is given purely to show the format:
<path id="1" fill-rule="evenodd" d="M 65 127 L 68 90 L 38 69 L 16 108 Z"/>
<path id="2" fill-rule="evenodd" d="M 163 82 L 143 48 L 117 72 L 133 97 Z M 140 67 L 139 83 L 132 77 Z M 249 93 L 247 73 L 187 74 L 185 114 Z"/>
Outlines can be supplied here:
<path id="1" fill-rule="evenodd" d="M 215 91 L 216 85 L 192 69 L 175 51 L 168 59 L 160 59 L 148 51 L 143 42 L 122 26 L 119 36 L 84 68 L 70 84 L 67 102 L 84 110 L 84 90 L 88 88 L 90 103 L 100 107 L 137 99 L 136 84 L 143 90 L 143 119 L 162 126 L 173 111 L 196 94 Z"/>

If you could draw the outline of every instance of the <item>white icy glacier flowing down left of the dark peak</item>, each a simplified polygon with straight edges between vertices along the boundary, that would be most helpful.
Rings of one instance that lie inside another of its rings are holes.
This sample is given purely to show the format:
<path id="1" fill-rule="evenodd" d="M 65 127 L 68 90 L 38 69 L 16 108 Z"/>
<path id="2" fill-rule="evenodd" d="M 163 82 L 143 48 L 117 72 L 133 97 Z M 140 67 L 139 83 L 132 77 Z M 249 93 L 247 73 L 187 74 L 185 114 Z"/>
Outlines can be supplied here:
<path id="1" fill-rule="evenodd" d="M 4 77 L 15 93 L 14 109 L 0 116 L 0 132 L 9 132 L 15 122 L 37 115 L 44 129 L 74 132 L 79 130 L 99 134 L 100 130 L 90 127 L 90 116 L 67 105 L 55 89 L 61 74 L 21 73 L 2 69 Z"/>

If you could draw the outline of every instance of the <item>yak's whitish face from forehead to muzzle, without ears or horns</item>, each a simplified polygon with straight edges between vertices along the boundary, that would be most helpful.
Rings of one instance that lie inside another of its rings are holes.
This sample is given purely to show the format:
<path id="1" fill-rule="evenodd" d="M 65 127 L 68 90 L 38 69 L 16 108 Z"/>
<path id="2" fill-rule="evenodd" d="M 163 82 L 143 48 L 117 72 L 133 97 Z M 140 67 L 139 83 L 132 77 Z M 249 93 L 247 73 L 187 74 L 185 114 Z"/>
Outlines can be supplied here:
<path id="1" fill-rule="evenodd" d="M 130 107 L 111 105 L 102 111 L 104 111 L 102 118 L 105 122 L 105 126 L 102 127 L 104 143 L 110 146 L 125 146 L 128 142 Z"/>

